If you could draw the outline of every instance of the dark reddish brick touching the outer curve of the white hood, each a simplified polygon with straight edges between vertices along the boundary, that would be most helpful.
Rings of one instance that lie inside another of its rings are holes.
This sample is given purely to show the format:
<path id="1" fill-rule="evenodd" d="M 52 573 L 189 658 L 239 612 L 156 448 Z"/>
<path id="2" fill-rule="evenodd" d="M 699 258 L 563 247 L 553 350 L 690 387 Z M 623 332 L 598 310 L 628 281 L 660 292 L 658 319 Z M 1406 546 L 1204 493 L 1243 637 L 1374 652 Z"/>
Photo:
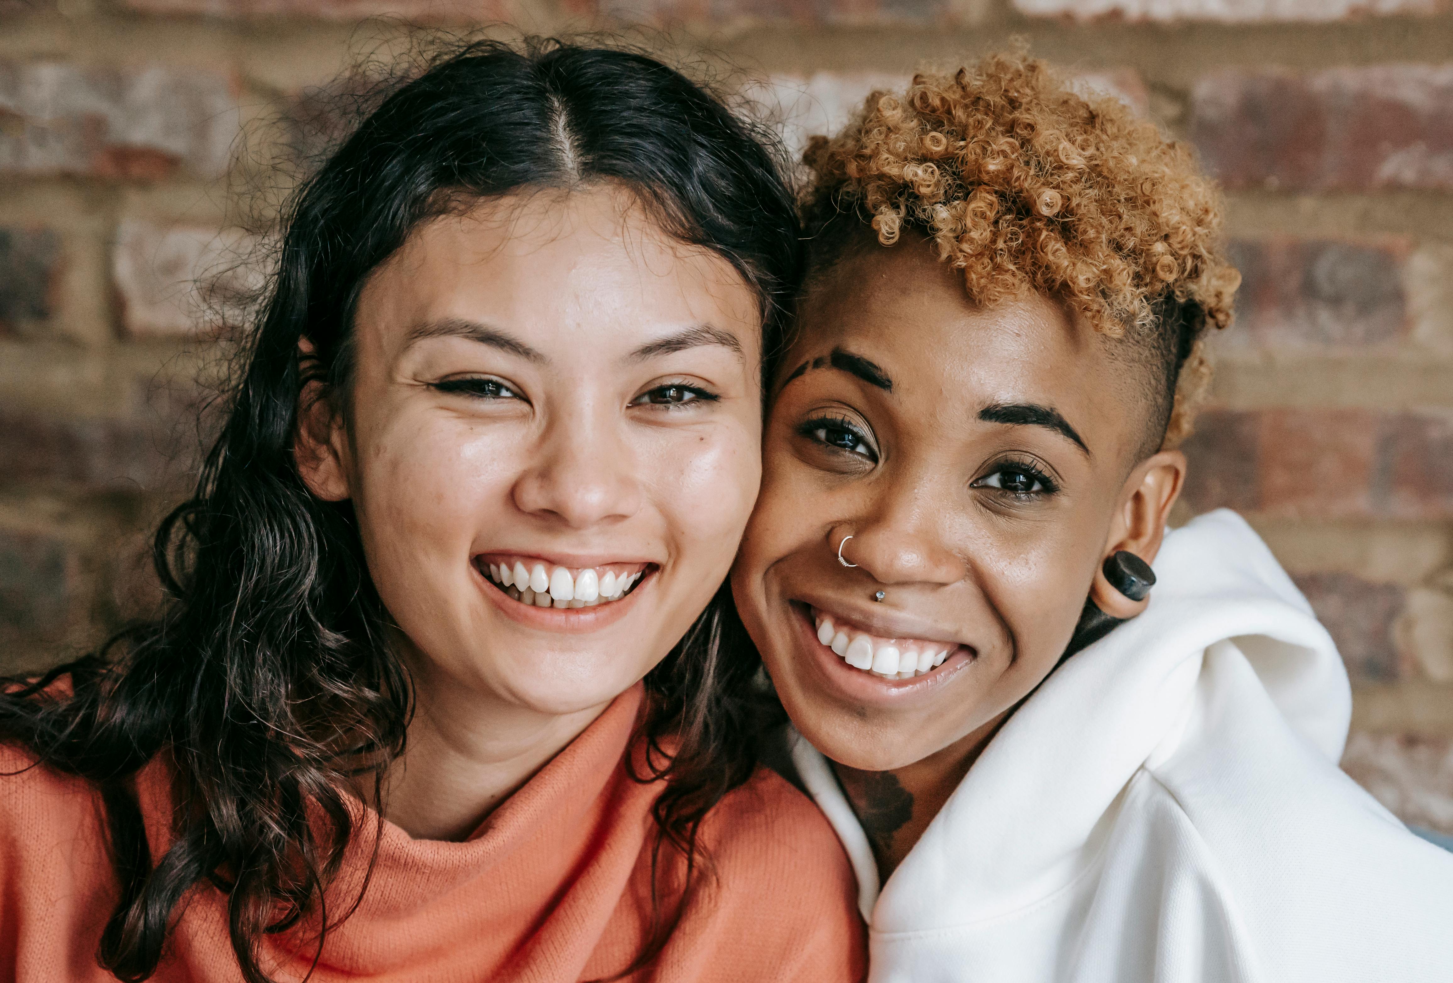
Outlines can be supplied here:
<path id="1" fill-rule="evenodd" d="M 1407 601 L 1396 584 L 1372 584 L 1351 574 L 1293 576 L 1337 642 L 1354 681 L 1385 682 L 1399 675 L 1392 626 Z"/>

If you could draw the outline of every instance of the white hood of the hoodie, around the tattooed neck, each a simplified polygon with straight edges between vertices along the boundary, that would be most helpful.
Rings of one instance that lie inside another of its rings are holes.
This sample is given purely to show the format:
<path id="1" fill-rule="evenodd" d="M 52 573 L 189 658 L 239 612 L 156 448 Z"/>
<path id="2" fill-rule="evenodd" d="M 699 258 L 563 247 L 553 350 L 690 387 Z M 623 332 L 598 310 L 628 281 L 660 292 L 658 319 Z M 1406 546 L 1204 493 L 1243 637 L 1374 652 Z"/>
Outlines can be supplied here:
<path id="1" fill-rule="evenodd" d="M 1069 658 L 1019 709 L 881 894 L 827 762 L 795 741 L 805 784 L 854 854 L 875 934 L 1010 916 L 1088 876 L 1126 784 L 1194 726 L 1202 659 L 1218 642 L 1234 640 L 1300 739 L 1341 756 L 1351 719 L 1341 658 L 1245 520 L 1218 510 L 1170 531 L 1154 569 L 1149 607 Z"/>

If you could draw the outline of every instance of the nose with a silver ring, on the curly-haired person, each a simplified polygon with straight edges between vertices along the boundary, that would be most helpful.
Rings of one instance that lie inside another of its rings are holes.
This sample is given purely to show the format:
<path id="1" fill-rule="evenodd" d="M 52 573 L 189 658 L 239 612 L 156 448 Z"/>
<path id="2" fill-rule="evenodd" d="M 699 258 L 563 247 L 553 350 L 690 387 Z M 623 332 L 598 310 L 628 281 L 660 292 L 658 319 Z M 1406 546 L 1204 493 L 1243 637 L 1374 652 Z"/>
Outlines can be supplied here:
<path id="1" fill-rule="evenodd" d="M 879 584 L 953 584 L 968 566 L 947 543 L 949 508 L 923 488 L 882 488 L 865 514 L 828 530 L 828 549 Z"/>

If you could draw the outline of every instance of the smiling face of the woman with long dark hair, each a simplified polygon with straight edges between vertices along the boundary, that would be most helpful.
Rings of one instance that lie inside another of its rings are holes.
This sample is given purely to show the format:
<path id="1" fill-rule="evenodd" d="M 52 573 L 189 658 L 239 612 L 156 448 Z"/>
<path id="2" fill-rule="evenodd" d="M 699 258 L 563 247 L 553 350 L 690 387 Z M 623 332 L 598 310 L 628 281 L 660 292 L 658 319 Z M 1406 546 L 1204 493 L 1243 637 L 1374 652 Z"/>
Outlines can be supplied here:
<path id="1" fill-rule="evenodd" d="M 667 655 L 757 494 L 760 350 L 735 269 L 609 186 L 437 218 L 369 277 L 299 462 L 432 701 L 568 714 Z"/>

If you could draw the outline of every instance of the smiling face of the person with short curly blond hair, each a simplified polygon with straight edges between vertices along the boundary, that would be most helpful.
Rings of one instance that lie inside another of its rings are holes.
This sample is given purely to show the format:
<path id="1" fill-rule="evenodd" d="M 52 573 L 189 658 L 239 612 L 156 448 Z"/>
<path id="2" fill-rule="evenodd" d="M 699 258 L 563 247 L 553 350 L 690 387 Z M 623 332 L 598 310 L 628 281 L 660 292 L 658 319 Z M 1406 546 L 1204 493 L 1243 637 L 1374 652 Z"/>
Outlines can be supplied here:
<path id="1" fill-rule="evenodd" d="M 849 254 L 799 318 L 732 590 L 808 741 L 899 768 L 1045 678 L 1101 559 L 1154 556 L 1184 463 L 1139 460 L 1123 343 L 1037 295 L 971 305 L 924 242 Z"/>

